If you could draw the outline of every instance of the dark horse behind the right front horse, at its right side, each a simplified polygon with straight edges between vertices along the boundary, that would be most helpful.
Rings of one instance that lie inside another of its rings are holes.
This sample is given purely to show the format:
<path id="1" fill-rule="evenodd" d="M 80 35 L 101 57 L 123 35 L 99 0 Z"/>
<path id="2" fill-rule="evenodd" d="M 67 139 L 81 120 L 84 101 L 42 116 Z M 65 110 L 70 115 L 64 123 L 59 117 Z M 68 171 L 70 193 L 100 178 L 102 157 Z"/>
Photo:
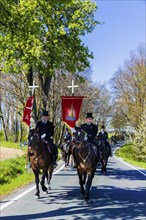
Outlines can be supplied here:
<path id="1" fill-rule="evenodd" d="M 100 146 L 101 172 L 105 174 L 109 157 L 109 147 L 106 141 L 99 141 L 98 144 Z"/>

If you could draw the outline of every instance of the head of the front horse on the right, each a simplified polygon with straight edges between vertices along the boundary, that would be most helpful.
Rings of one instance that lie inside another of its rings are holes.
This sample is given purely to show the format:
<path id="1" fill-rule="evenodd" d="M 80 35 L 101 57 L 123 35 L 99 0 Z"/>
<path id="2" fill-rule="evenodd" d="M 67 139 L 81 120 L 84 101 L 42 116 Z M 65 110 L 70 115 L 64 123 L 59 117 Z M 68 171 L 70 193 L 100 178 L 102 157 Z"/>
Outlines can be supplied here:
<path id="1" fill-rule="evenodd" d="M 77 147 L 81 147 L 82 144 L 87 140 L 87 134 L 80 127 L 76 128 L 73 137 L 74 143 Z"/>

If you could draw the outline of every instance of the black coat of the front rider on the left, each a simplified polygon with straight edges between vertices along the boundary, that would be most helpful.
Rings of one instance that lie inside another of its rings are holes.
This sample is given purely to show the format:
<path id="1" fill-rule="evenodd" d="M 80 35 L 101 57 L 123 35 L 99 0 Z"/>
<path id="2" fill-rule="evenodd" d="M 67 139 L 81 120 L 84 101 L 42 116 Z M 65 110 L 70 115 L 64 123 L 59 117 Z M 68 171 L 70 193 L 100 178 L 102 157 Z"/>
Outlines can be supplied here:
<path id="1" fill-rule="evenodd" d="M 46 141 L 49 141 L 50 138 L 54 134 L 54 126 L 53 126 L 53 123 L 50 121 L 47 121 L 46 123 L 42 121 L 37 122 L 35 129 L 39 129 L 40 136 L 43 134 L 46 134 L 46 137 L 45 137 Z"/>

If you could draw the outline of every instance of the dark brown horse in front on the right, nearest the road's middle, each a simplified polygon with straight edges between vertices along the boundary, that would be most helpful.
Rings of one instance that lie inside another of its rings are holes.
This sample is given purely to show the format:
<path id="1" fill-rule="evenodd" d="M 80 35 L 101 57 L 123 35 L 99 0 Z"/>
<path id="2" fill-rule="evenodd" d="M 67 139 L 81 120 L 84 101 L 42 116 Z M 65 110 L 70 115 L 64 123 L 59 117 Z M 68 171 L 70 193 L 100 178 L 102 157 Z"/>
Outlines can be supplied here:
<path id="1" fill-rule="evenodd" d="M 84 200 L 88 201 L 90 187 L 96 171 L 97 149 L 93 144 L 86 141 L 86 133 L 81 128 L 76 128 L 73 142 L 81 194 Z"/>

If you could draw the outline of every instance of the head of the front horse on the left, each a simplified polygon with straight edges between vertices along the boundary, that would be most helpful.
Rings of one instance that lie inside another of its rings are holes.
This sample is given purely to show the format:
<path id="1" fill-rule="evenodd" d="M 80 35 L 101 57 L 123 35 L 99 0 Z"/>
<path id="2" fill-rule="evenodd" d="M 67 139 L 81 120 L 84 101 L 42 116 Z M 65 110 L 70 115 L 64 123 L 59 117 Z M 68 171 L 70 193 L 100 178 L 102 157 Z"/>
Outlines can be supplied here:
<path id="1" fill-rule="evenodd" d="M 41 138 L 38 129 L 31 129 L 28 134 L 28 146 L 34 148 L 37 147 L 40 142 Z"/>

